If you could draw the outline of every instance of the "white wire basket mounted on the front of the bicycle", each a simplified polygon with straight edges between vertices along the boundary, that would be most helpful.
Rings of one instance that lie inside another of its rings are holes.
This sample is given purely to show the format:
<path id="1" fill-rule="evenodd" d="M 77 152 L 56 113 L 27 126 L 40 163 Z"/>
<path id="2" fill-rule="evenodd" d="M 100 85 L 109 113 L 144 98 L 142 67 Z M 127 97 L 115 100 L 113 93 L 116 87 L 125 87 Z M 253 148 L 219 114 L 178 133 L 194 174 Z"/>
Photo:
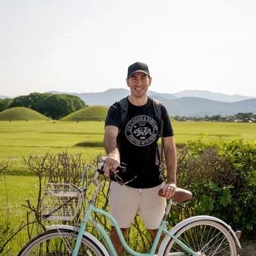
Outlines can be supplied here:
<path id="1" fill-rule="evenodd" d="M 79 211 L 82 195 L 74 184 L 47 183 L 42 203 L 42 218 L 45 220 L 71 221 Z"/>

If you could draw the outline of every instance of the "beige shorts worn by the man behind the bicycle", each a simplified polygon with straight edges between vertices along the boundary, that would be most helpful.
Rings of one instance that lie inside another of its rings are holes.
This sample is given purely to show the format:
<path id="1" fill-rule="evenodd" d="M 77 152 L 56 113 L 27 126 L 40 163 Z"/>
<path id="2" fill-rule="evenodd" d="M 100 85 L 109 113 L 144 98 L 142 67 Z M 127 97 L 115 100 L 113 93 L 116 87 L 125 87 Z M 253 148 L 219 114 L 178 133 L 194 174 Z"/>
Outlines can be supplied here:
<path id="1" fill-rule="evenodd" d="M 109 206 L 110 213 L 120 228 L 129 228 L 138 212 L 148 229 L 157 229 L 161 224 L 166 199 L 158 195 L 164 182 L 154 188 L 131 188 L 111 181 Z"/>

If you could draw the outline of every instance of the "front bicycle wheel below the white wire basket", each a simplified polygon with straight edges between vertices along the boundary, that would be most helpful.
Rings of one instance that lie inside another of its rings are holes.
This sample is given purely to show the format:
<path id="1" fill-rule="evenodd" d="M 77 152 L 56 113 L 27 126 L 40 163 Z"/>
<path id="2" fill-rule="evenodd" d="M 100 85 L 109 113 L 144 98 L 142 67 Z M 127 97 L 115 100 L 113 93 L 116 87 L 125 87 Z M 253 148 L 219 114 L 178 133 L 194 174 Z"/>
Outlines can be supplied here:
<path id="1" fill-rule="evenodd" d="M 77 232 L 68 229 L 49 230 L 29 241 L 18 256 L 70 256 L 76 243 Z M 78 256 L 104 256 L 99 246 L 87 236 L 83 236 Z"/>

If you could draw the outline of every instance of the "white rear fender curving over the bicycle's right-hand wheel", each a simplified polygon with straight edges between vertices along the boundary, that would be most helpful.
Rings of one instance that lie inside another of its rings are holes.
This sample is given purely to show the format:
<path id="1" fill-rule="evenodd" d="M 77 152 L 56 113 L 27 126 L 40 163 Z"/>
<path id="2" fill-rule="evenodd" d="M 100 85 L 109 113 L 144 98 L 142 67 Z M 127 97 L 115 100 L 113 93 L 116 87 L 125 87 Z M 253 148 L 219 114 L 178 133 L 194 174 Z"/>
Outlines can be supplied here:
<path id="1" fill-rule="evenodd" d="M 234 237 L 234 240 L 236 242 L 237 247 L 241 248 L 241 244 L 240 244 L 240 242 L 239 242 L 239 240 L 236 236 L 236 233 L 234 232 L 234 230 L 232 230 L 232 227 L 227 225 L 227 223 L 225 223 L 224 221 L 222 221 L 222 220 L 220 220 L 216 217 L 212 217 L 212 216 L 199 215 L 199 216 L 193 216 L 193 217 L 188 218 L 186 220 L 180 221 L 180 223 L 178 223 L 177 225 L 175 225 L 175 227 L 172 228 L 172 233 L 175 234 L 183 226 L 186 226 L 189 223 L 192 223 L 192 222 L 198 221 L 198 220 L 212 220 L 212 221 L 217 221 L 217 222 L 221 223 L 223 226 L 227 227 L 227 229 L 230 231 L 230 233 Z M 166 235 L 164 237 L 162 243 L 160 244 L 160 247 L 159 247 L 159 250 L 158 250 L 158 255 L 163 255 L 164 250 L 165 250 L 167 244 L 169 243 L 170 239 L 172 239 L 172 237 L 170 237 L 168 235 Z"/>

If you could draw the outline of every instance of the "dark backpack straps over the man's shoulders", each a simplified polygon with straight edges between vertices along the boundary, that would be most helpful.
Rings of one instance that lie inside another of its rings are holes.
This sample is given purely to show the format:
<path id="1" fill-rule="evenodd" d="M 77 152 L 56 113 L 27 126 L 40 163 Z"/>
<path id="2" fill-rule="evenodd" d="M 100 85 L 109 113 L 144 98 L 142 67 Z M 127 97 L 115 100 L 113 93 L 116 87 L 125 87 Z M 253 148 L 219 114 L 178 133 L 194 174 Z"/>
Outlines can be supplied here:
<path id="1" fill-rule="evenodd" d="M 160 127 L 158 136 L 159 136 L 159 138 L 161 138 L 162 143 L 161 143 L 161 153 L 159 152 L 159 148 L 157 147 L 157 157 L 161 163 L 161 161 L 163 160 L 163 127 L 164 127 L 164 122 L 162 119 L 162 103 L 159 100 L 152 99 L 151 97 L 148 97 L 148 99 L 153 100 L 154 112 L 157 116 L 157 124 L 158 124 L 158 127 Z M 127 116 L 127 112 L 128 112 L 127 98 L 125 97 L 125 98 L 119 100 L 119 104 L 121 107 L 121 127 L 123 127 L 126 116 Z M 160 165 L 160 163 L 159 163 L 159 165 Z"/>

